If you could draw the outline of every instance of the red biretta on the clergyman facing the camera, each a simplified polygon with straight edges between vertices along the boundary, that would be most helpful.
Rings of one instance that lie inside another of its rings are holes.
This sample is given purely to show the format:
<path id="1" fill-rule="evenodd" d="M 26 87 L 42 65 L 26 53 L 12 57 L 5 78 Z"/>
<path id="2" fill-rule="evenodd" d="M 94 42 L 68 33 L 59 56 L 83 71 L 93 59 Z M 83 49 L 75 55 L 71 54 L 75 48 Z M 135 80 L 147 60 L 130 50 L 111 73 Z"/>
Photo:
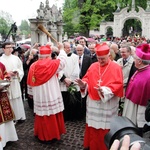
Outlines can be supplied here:
<path id="1" fill-rule="evenodd" d="M 102 44 L 96 44 L 95 49 L 96 49 L 97 56 L 103 56 L 109 53 L 110 48 L 106 43 L 102 43 Z"/>

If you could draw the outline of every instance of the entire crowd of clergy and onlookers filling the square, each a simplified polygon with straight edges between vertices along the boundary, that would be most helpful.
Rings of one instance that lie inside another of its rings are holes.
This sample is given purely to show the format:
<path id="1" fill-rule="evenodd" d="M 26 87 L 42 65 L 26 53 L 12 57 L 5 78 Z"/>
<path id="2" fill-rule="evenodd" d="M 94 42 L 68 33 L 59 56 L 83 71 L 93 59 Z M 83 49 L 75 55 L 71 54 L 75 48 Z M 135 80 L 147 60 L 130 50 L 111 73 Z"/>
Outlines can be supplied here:
<path id="1" fill-rule="evenodd" d="M 2 147 L 18 140 L 15 124 L 26 120 L 25 99 L 35 118 L 34 136 L 43 142 L 60 140 L 66 121 L 84 119 L 85 150 L 108 149 L 104 137 L 115 116 L 129 118 L 140 136 L 150 131 L 150 45 L 145 38 L 87 43 L 80 37 L 56 46 L 14 46 L 3 43 L 0 57 Z M 2 87 L 4 81 L 9 85 Z"/>

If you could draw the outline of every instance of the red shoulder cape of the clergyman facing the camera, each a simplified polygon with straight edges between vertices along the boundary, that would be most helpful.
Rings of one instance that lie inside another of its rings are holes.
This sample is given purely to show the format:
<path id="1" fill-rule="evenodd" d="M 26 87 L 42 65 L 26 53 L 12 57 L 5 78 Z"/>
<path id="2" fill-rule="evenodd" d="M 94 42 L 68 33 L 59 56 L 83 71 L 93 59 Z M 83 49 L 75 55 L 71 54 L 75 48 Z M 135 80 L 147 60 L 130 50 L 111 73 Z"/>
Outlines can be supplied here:
<path id="1" fill-rule="evenodd" d="M 99 74 L 103 74 L 108 65 L 100 67 L 99 62 L 93 63 L 83 77 L 83 81 L 88 84 L 88 93 L 91 99 L 99 100 L 100 97 L 94 87 L 97 87 Z M 100 72 L 100 73 L 99 73 Z M 121 67 L 115 62 L 110 61 L 109 67 L 101 78 L 101 86 L 106 86 L 111 89 L 115 96 L 123 96 L 123 75 Z"/>

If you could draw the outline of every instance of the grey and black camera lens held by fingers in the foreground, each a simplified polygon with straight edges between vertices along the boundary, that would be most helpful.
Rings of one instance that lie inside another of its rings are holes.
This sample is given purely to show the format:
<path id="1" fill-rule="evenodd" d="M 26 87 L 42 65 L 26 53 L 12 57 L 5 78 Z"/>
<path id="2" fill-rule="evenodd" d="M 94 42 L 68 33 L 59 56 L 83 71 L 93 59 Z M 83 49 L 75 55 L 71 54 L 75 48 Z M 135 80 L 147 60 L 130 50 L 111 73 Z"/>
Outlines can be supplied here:
<path id="1" fill-rule="evenodd" d="M 139 142 L 141 149 L 150 150 L 150 144 L 140 136 L 139 129 L 126 117 L 116 116 L 111 120 L 110 131 L 105 135 L 105 144 L 110 149 L 115 139 L 120 141 L 120 147 L 124 135 L 130 136 L 130 147 Z M 119 149 L 120 149 L 119 147 Z"/>

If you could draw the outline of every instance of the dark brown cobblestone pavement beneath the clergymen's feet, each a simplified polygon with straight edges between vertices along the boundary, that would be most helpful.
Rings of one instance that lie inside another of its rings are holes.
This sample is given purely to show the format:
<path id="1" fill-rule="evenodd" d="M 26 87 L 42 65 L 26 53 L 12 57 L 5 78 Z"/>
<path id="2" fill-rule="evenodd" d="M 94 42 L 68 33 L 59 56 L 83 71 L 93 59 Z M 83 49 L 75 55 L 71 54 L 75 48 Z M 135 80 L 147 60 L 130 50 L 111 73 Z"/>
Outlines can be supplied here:
<path id="1" fill-rule="evenodd" d="M 67 133 L 61 136 L 60 141 L 51 143 L 41 143 L 33 134 L 34 116 L 28 107 L 27 101 L 24 102 L 26 111 L 26 121 L 16 124 L 19 140 L 8 142 L 4 150 L 82 150 L 85 121 L 66 122 Z"/>

